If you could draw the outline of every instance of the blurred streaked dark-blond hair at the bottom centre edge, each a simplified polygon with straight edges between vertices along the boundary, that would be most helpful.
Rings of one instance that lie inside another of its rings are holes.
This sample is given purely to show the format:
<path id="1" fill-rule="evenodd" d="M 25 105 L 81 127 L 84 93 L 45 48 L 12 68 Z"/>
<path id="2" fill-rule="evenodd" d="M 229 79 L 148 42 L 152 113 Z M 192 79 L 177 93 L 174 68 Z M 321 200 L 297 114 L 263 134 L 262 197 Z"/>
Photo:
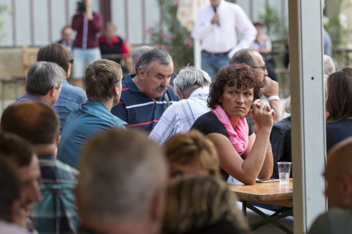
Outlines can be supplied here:
<path id="1" fill-rule="evenodd" d="M 249 233 L 234 193 L 221 179 L 193 175 L 181 177 L 169 186 L 163 234 L 192 233 L 224 220 L 240 233 Z"/>

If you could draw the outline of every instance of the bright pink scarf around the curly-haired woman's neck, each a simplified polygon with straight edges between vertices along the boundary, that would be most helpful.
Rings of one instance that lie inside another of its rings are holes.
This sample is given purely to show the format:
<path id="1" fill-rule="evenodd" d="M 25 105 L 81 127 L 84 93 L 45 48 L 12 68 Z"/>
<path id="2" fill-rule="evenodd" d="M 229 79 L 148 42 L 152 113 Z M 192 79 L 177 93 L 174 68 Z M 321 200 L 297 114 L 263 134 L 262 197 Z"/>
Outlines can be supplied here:
<path id="1" fill-rule="evenodd" d="M 235 129 L 233 129 L 230 119 L 227 116 L 225 110 L 222 106 L 218 105 L 215 109 L 211 111 L 218 117 L 220 122 L 225 126 L 227 133 L 230 137 L 230 142 L 233 148 L 237 151 L 239 155 L 243 154 L 248 146 L 248 124 L 246 117 L 239 118 Z"/>

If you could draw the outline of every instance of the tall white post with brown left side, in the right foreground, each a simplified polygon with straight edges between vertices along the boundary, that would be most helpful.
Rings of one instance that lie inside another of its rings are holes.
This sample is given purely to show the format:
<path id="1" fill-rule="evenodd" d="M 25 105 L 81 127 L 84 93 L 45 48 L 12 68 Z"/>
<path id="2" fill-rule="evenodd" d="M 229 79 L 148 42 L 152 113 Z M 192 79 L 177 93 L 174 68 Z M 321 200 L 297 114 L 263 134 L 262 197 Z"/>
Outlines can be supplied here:
<path id="1" fill-rule="evenodd" d="M 326 211 L 321 1 L 288 1 L 294 233 Z"/>

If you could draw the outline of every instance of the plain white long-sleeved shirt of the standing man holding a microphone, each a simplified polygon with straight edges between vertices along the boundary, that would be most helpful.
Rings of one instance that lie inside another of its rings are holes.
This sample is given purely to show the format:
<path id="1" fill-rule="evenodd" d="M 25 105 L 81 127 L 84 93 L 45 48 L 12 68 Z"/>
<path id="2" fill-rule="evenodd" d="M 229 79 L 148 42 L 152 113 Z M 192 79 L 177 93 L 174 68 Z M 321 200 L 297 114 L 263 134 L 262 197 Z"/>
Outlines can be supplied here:
<path id="1" fill-rule="evenodd" d="M 229 52 L 229 58 L 240 49 L 249 48 L 257 30 L 246 13 L 237 4 L 221 0 L 216 13 L 219 24 L 212 24 L 215 11 L 211 4 L 201 7 L 196 16 L 192 37 L 201 41 L 201 48 L 210 53 Z M 237 43 L 237 31 L 243 34 Z"/>

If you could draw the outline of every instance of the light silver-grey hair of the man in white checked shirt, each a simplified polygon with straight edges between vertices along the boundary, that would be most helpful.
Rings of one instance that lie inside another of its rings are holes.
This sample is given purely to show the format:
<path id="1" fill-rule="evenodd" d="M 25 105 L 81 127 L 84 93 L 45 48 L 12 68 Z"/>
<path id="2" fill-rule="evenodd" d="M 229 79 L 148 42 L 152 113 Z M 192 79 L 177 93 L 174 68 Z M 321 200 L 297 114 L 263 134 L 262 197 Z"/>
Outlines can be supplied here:
<path id="1" fill-rule="evenodd" d="M 194 66 L 186 66 L 174 79 L 175 94 L 177 95 L 177 90 L 182 94 L 191 94 L 194 89 L 209 86 L 210 83 L 208 73 Z"/>

